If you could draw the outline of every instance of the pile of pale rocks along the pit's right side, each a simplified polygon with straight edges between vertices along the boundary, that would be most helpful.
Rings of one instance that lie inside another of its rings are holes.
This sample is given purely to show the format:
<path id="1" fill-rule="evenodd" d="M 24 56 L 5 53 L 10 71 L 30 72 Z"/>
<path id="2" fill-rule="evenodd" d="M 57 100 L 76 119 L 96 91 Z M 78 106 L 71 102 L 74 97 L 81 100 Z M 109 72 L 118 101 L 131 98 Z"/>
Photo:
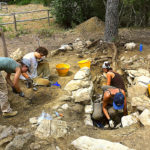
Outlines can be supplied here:
<path id="1" fill-rule="evenodd" d="M 148 70 L 139 68 L 137 70 L 126 70 L 128 75 L 128 102 L 132 106 L 133 114 L 122 117 L 123 127 L 142 123 L 150 125 L 150 98 L 148 95 L 148 84 L 150 83 L 150 73 Z"/>

